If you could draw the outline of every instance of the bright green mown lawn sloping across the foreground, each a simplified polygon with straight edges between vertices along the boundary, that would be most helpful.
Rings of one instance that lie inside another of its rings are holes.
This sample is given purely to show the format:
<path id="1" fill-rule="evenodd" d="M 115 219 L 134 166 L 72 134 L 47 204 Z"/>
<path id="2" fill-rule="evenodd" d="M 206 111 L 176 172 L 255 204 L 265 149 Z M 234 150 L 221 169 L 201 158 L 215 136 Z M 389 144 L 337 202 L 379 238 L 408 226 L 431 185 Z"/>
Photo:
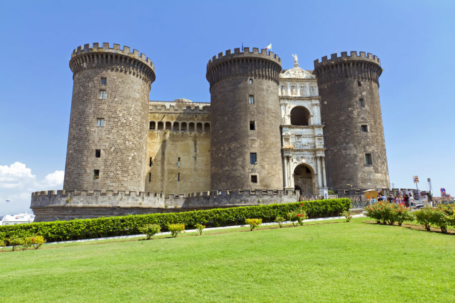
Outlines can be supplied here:
<path id="1" fill-rule="evenodd" d="M 0 301 L 455 301 L 455 235 L 367 220 L 3 252 Z"/>

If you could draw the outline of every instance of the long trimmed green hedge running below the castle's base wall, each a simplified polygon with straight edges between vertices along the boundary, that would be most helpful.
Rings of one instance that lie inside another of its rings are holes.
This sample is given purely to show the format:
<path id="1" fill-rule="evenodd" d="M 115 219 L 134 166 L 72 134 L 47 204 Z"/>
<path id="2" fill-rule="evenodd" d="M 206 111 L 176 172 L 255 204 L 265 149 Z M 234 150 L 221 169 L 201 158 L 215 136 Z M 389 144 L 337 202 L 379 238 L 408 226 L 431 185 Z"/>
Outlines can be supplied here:
<path id="1" fill-rule="evenodd" d="M 277 216 L 285 217 L 287 213 L 298 211 L 300 208 L 306 211 L 309 218 L 331 217 L 338 216 L 343 211 L 348 210 L 350 203 L 350 199 L 341 198 L 180 213 L 128 215 L 6 225 L 0 226 L 0 239 L 38 234 L 42 235 L 47 242 L 54 242 L 134 235 L 140 233 L 139 227 L 147 224 L 159 224 L 161 229 L 166 231 L 167 225 L 174 223 L 184 223 L 188 228 L 194 228 L 198 223 L 205 224 L 207 227 L 244 224 L 245 219 L 249 218 L 260 218 L 263 222 L 273 222 Z"/>

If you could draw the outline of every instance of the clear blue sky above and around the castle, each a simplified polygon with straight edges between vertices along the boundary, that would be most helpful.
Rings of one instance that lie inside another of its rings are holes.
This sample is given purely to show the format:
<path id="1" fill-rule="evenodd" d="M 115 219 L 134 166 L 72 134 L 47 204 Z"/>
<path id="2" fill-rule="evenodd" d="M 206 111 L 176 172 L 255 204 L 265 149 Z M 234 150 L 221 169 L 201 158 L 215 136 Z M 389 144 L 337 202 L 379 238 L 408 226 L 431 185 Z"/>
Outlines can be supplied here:
<path id="1" fill-rule="evenodd" d="M 110 42 L 154 62 L 151 100 L 209 102 L 207 61 L 265 47 L 292 67 L 344 51 L 377 55 L 390 180 L 455 193 L 453 1 L 2 2 L 0 214 L 29 207 L 30 191 L 62 188 L 78 45 Z M 16 164 L 15 164 L 16 163 Z"/>

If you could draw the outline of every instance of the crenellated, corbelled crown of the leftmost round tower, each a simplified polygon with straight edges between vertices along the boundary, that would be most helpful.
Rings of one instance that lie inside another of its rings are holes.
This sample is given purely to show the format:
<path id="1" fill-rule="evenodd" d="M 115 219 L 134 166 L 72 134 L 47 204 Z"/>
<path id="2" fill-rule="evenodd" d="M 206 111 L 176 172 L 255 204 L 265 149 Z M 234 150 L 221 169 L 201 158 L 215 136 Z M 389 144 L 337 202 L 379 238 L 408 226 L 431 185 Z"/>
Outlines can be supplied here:
<path id="1" fill-rule="evenodd" d="M 150 58 L 139 53 L 137 49 L 131 52 L 129 46 L 123 46 L 121 49 L 120 44 L 113 44 L 113 47 L 110 47 L 109 43 L 100 45 L 96 42 L 93 45 L 87 43 L 78 46 L 71 54 L 69 65 L 74 74 L 84 69 L 103 67 L 141 77 L 150 83 L 156 78 L 155 65 Z"/>

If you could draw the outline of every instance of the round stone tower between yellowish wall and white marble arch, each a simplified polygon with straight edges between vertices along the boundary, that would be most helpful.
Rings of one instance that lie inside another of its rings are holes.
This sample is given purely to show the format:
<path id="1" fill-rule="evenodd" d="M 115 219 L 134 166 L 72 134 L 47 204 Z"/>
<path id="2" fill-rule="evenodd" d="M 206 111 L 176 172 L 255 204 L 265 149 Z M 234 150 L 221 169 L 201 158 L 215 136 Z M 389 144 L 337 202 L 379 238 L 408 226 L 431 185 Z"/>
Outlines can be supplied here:
<path id="1" fill-rule="evenodd" d="M 208 62 L 212 190 L 283 189 L 280 71 L 281 59 L 258 48 Z"/>

